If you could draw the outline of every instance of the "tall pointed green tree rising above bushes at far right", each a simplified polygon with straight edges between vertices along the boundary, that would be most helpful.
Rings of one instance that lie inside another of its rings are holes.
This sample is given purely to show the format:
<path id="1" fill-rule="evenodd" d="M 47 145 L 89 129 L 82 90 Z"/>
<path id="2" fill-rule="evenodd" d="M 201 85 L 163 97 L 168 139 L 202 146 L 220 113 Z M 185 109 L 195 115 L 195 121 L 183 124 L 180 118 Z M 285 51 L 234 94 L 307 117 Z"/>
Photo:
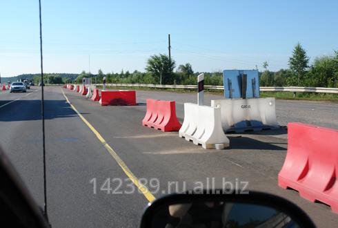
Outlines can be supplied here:
<path id="1" fill-rule="evenodd" d="M 293 49 L 292 56 L 289 59 L 290 70 L 294 73 L 291 78 L 291 83 L 301 86 L 306 77 L 306 70 L 308 69 L 309 57 L 306 55 L 306 50 L 297 44 Z"/>

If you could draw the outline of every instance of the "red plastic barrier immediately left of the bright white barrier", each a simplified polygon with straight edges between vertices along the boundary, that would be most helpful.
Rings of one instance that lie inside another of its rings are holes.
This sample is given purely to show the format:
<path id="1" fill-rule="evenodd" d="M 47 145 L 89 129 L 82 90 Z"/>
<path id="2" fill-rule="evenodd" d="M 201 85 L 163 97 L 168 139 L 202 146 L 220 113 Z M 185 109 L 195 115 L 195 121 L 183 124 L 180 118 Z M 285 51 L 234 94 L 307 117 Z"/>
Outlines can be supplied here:
<path id="1" fill-rule="evenodd" d="M 147 113 L 142 125 L 161 131 L 179 131 L 181 124 L 177 120 L 175 102 L 147 99 Z"/>

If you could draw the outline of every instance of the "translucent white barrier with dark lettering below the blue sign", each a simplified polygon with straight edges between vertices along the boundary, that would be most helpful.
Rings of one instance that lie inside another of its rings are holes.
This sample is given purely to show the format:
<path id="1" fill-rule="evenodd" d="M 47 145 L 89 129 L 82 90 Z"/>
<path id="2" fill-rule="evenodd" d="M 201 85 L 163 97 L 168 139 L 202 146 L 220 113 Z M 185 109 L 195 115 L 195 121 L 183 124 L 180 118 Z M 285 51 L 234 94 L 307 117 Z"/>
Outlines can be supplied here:
<path id="1" fill-rule="evenodd" d="M 212 107 L 221 108 L 223 131 L 243 132 L 274 129 L 276 120 L 275 98 L 214 99 Z"/>

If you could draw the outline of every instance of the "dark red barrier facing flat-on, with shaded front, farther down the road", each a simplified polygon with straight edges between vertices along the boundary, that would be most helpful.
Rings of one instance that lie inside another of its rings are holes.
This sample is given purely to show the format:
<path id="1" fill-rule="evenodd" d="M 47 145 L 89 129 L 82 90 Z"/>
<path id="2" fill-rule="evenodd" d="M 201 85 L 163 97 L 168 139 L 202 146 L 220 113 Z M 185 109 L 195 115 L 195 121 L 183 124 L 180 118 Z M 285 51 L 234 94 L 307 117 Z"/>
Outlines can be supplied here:
<path id="1" fill-rule="evenodd" d="M 135 91 L 101 91 L 101 106 L 136 105 Z"/>

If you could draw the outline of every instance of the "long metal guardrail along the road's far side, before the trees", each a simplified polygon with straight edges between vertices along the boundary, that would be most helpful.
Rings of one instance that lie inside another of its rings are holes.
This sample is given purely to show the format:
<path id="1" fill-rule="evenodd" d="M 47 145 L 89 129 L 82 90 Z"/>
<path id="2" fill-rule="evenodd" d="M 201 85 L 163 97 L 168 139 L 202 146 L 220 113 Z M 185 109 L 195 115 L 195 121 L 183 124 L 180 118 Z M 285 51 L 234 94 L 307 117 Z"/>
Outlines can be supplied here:
<path id="1" fill-rule="evenodd" d="M 103 84 L 97 84 L 102 86 Z M 197 89 L 197 85 L 159 85 L 159 84 L 106 84 L 106 86 L 115 87 L 148 87 L 148 88 L 188 88 Z M 223 90 L 223 86 L 204 86 L 206 89 Z M 259 87 L 262 92 L 293 92 L 293 93 L 336 93 L 338 88 L 322 88 L 322 87 Z"/>

